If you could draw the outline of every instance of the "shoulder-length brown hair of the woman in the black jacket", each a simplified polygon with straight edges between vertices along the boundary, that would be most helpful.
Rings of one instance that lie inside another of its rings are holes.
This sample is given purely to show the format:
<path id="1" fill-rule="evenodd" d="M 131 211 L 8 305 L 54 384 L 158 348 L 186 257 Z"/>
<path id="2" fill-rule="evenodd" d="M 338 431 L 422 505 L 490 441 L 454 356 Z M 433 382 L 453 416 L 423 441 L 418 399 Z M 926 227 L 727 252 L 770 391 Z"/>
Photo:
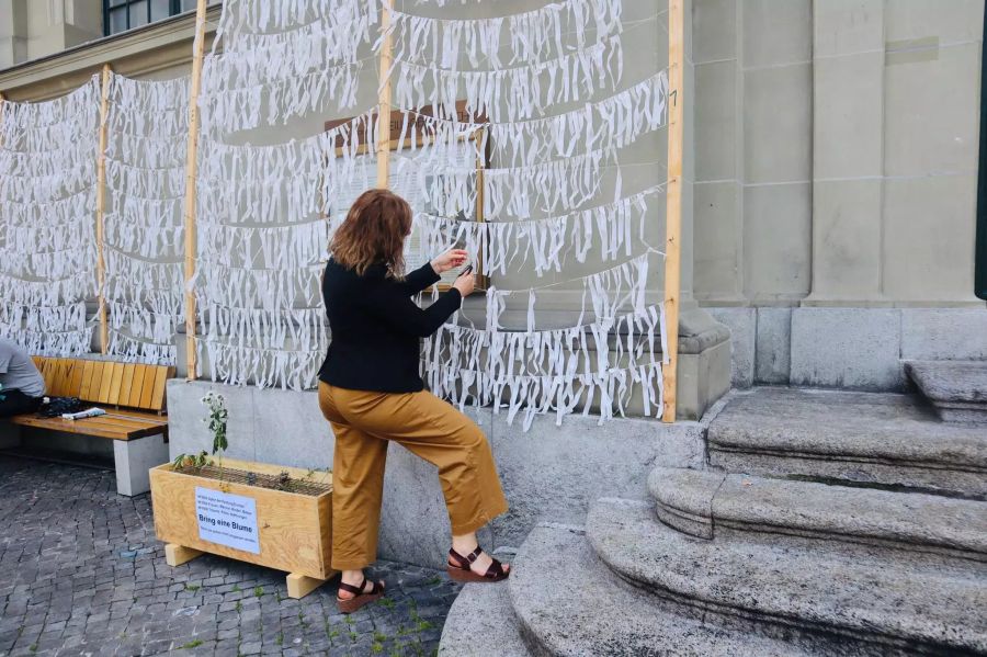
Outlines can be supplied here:
<path id="1" fill-rule="evenodd" d="M 388 190 L 363 192 L 336 231 L 329 250 L 332 259 L 363 275 L 383 263 L 388 274 L 405 273 L 405 238 L 411 233 L 411 206 Z"/>

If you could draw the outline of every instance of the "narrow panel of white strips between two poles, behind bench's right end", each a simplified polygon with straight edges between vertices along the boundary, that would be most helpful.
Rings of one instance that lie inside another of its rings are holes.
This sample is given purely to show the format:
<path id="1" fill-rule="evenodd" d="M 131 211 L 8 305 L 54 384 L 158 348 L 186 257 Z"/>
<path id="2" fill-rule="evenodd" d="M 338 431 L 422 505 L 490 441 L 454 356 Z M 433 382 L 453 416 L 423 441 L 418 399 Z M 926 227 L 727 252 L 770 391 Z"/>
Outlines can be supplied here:
<path id="1" fill-rule="evenodd" d="M 123 361 L 173 365 L 185 321 L 183 259 L 189 78 L 111 75 L 105 283 L 110 341 Z"/>

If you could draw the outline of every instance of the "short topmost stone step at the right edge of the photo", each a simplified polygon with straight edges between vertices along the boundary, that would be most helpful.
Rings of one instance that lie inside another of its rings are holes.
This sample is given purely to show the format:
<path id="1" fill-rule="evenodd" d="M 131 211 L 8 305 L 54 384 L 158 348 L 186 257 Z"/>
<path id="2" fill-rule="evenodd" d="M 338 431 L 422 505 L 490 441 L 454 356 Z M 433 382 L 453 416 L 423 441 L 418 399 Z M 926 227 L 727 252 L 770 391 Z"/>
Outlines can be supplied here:
<path id="1" fill-rule="evenodd" d="M 905 373 L 948 422 L 987 422 L 987 361 L 909 361 Z"/>

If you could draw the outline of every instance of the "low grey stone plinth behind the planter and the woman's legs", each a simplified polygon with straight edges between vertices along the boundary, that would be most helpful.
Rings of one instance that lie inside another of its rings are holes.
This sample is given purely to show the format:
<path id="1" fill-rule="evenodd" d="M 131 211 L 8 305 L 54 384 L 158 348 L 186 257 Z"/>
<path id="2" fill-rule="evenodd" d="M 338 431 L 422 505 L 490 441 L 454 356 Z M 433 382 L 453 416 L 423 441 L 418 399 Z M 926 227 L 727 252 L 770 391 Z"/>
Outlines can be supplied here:
<path id="1" fill-rule="evenodd" d="M 727 367 L 729 366 L 727 361 Z M 314 392 L 261 390 L 209 382 L 168 384 L 169 448 L 180 453 L 208 450 L 212 438 L 200 399 L 208 390 L 226 396 L 229 450 L 234 458 L 325 468 L 333 441 Z M 541 520 L 581 522 L 601 496 L 648 498 L 647 476 L 657 465 L 704 467 L 703 427 L 647 419 L 570 416 L 560 427 L 538 417 L 526 433 L 504 415 L 470 409 L 487 433 L 510 511 L 480 534 L 485 547 L 517 547 Z M 399 445 L 388 450 L 384 479 L 379 556 L 444 567 L 449 516 L 435 468 Z"/>

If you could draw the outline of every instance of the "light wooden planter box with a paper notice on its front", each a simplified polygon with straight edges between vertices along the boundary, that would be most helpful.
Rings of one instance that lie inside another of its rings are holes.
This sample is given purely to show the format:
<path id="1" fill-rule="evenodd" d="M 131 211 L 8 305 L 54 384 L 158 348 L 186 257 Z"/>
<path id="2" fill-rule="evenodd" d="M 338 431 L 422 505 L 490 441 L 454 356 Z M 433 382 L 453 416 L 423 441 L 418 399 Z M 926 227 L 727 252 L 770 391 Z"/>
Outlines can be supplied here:
<path id="1" fill-rule="evenodd" d="M 292 598 L 303 598 L 329 579 L 332 548 L 331 475 L 309 476 L 296 467 L 223 460 L 224 468 L 329 484 L 330 490 L 304 495 L 236 480 L 219 480 L 151 468 L 155 531 L 164 541 L 168 565 L 180 566 L 207 552 L 288 573 Z M 307 479 L 306 479 L 307 477 Z"/>

